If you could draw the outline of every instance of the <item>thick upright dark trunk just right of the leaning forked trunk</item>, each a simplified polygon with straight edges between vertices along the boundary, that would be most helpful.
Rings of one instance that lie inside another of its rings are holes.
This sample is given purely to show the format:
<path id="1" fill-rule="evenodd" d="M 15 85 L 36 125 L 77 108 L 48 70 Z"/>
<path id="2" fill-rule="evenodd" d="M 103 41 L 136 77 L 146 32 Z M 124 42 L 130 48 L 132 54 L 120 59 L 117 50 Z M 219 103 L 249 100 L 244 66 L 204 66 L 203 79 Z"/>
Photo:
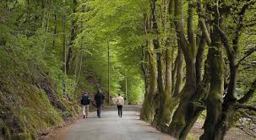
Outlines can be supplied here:
<path id="1" fill-rule="evenodd" d="M 224 92 L 224 62 L 222 57 L 221 39 L 217 33 L 212 35 L 212 46 L 209 49 L 210 53 L 210 92 L 206 100 L 207 116 L 204 121 L 204 134 L 200 137 L 201 140 L 220 138 L 220 131 L 217 131 L 218 123 L 223 103 Z"/>

